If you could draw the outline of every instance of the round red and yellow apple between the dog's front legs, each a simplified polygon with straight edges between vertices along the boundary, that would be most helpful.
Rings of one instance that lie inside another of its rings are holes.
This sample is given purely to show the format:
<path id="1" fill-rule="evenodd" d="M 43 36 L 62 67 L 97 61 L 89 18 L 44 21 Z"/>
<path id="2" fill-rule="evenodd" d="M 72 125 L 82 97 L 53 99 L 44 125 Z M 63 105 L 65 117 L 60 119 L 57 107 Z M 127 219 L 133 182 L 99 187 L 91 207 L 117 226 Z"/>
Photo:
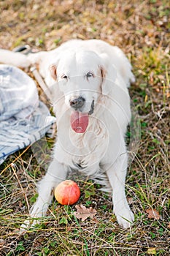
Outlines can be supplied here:
<path id="1" fill-rule="evenodd" d="M 72 205 L 79 200 L 80 188 L 74 181 L 62 181 L 55 187 L 54 195 L 55 199 L 58 200 L 58 203 L 61 203 L 61 205 Z"/>

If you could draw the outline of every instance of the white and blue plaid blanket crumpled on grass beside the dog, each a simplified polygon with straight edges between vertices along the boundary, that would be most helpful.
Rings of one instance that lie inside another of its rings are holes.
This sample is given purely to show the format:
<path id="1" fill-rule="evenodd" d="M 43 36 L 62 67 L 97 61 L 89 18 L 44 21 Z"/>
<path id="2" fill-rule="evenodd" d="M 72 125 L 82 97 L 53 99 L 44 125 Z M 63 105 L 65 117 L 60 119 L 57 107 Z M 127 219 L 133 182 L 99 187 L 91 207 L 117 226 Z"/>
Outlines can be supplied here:
<path id="1" fill-rule="evenodd" d="M 0 165 L 42 138 L 54 122 L 39 101 L 34 80 L 17 67 L 0 64 Z"/>

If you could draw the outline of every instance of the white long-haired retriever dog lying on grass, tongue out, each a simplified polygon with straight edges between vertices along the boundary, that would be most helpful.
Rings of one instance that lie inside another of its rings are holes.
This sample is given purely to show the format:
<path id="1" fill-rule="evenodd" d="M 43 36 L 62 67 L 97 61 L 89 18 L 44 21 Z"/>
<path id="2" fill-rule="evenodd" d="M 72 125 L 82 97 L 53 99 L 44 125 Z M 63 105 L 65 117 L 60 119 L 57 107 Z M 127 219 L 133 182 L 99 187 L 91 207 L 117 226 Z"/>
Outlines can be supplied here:
<path id="1" fill-rule="evenodd" d="M 125 132 L 131 120 L 128 86 L 134 75 L 128 59 L 120 48 L 97 39 L 71 40 L 55 50 L 22 58 L 11 62 L 39 65 L 52 94 L 58 127 L 53 161 L 39 182 L 31 217 L 45 216 L 53 188 L 69 171 L 78 170 L 112 188 L 117 222 L 130 227 L 134 214 L 125 197 Z M 0 61 L 9 63 L 3 54 Z"/>

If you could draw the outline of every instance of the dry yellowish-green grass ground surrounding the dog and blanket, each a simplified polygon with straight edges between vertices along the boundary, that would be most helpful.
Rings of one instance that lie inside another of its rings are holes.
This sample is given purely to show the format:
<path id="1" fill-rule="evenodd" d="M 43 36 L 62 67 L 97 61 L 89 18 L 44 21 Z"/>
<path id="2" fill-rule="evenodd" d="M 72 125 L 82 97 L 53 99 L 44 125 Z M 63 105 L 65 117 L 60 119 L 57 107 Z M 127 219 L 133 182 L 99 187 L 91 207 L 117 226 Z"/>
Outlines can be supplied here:
<path id="1" fill-rule="evenodd" d="M 135 214 L 130 230 L 118 227 L 110 195 L 78 176 L 79 203 L 96 208 L 96 217 L 81 222 L 74 206 L 53 200 L 47 217 L 20 236 L 19 227 L 36 200 L 35 183 L 50 162 L 53 140 L 44 138 L 0 167 L 0 255 L 168 256 L 169 1 L 7 0 L 0 7 L 0 48 L 29 44 L 50 50 L 72 38 L 104 39 L 122 48 L 134 67 L 130 94 L 141 127 L 126 181 Z M 132 127 L 128 140 L 131 132 Z M 155 208 L 161 218 L 149 219 L 147 208 Z"/>

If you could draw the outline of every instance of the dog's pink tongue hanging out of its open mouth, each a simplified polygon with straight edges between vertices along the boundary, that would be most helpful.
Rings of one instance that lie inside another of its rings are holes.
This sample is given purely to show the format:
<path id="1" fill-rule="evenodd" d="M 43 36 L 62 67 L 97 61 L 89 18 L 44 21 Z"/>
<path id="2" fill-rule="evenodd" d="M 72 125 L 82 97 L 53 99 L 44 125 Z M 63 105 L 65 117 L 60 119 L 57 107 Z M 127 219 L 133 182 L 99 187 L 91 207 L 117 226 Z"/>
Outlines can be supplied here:
<path id="1" fill-rule="evenodd" d="M 88 113 L 72 111 L 70 121 L 74 132 L 83 133 L 88 127 Z"/>

